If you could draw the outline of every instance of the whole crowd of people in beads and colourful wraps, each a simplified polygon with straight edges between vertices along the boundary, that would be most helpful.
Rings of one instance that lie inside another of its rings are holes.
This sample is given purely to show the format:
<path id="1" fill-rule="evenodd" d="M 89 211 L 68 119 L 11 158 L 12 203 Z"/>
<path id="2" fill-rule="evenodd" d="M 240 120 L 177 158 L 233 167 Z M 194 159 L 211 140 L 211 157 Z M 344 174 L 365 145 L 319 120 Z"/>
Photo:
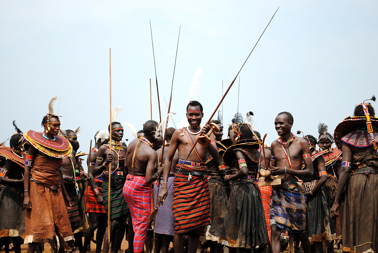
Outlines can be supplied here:
<path id="1" fill-rule="evenodd" d="M 270 145 L 253 112 L 237 112 L 226 132 L 220 115 L 201 127 L 203 107 L 190 101 L 187 127 L 148 120 L 127 146 L 116 108 L 89 155 L 77 152 L 79 128 L 60 129 L 53 102 L 44 132 L 13 121 L 9 147 L 0 144 L 6 251 L 12 242 L 15 253 L 21 244 L 41 252 L 47 242 L 54 253 L 85 253 L 93 241 L 96 253 L 118 253 L 126 234 L 130 253 L 167 253 L 171 243 L 175 253 L 280 253 L 288 244 L 296 253 L 377 252 L 378 118 L 369 102 L 334 134 L 319 123 L 318 138 L 294 134 L 293 116 L 281 112 Z"/>

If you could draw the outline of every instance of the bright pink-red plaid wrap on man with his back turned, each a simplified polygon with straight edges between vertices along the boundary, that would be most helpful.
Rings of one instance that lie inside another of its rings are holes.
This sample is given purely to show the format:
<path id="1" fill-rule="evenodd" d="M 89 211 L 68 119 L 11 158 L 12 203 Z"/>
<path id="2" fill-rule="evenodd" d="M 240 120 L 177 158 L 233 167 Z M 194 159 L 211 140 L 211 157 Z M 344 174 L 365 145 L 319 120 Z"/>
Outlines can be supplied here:
<path id="1" fill-rule="evenodd" d="M 129 205 L 134 228 L 134 252 L 143 251 L 147 229 L 150 225 L 152 205 L 151 184 L 146 177 L 127 175 L 123 196 Z"/>

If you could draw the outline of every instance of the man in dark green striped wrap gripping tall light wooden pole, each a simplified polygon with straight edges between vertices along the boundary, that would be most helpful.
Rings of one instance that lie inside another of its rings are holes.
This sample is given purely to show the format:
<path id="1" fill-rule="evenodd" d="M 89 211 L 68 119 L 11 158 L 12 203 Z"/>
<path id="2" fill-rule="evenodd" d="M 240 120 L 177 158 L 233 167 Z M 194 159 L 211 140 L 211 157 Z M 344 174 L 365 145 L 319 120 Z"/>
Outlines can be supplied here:
<path id="1" fill-rule="evenodd" d="M 110 130 L 110 126 L 108 127 Z M 129 213 L 129 207 L 124 200 L 122 188 L 126 180 L 124 169 L 125 155 L 127 147 L 123 146 L 120 141 L 123 138 L 123 127 L 119 122 L 112 122 L 112 152 L 110 152 L 110 143 L 102 145 L 98 149 L 95 164 L 95 174 L 104 173 L 104 182 L 102 183 L 102 197 L 104 207 L 108 212 L 108 191 L 110 187 L 110 238 L 115 234 L 115 241 L 112 247 L 113 253 L 118 253 L 121 242 L 125 234 L 126 219 Z M 109 163 L 112 163 L 111 178 L 109 182 Z M 109 239 L 110 240 L 110 239 Z M 109 250 L 108 242 L 104 242 L 104 253 Z"/>

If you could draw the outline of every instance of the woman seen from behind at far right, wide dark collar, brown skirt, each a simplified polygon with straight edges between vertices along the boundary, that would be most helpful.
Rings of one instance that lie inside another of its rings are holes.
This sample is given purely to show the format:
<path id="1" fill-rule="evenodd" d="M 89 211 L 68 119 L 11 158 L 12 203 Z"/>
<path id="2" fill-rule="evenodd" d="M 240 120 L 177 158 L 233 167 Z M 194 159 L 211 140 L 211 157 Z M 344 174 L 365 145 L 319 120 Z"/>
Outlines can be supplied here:
<path id="1" fill-rule="evenodd" d="M 375 101 L 375 96 L 368 100 Z M 341 216 L 344 251 L 378 250 L 377 127 L 373 107 L 362 102 L 355 107 L 354 116 L 345 118 L 335 129 L 335 143 L 342 148 L 342 163 L 330 216 Z"/>

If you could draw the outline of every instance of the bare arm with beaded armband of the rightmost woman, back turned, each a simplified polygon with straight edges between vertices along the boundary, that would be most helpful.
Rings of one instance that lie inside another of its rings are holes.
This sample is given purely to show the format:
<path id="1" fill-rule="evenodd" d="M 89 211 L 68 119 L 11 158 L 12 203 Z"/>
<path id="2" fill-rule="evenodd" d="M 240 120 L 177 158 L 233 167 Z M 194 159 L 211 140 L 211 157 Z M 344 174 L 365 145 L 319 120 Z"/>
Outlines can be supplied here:
<path id="1" fill-rule="evenodd" d="M 348 162 L 352 161 L 352 149 L 350 148 L 349 144 L 344 143 L 344 142 L 342 143 L 342 161 L 348 161 Z M 336 217 L 339 217 L 339 204 L 340 204 L 341 194 L 344 191 L 345 185 L 347 185 L 351 171 L 352 171 L 352 168 L 349 166 L 341 167 L 341 173 L 339 176 L 339 182 L 337 186 L 335 200 L 330 210 L 330 217 L 332 219 L 336 219 Z"/>

